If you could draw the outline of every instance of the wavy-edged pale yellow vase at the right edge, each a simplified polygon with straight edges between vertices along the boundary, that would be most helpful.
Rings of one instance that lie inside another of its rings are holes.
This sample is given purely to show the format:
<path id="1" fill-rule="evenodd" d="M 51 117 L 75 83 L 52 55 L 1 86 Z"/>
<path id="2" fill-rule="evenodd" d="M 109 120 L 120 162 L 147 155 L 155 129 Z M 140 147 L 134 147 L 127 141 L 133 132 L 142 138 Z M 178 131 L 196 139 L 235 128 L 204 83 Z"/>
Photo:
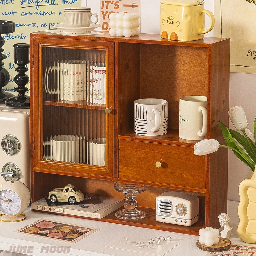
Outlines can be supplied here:
<path id="1" fill-rule="evenodd" d="M 239 185 L 238 236 L 245 243 L 256 243 L 256 175 Z"/>

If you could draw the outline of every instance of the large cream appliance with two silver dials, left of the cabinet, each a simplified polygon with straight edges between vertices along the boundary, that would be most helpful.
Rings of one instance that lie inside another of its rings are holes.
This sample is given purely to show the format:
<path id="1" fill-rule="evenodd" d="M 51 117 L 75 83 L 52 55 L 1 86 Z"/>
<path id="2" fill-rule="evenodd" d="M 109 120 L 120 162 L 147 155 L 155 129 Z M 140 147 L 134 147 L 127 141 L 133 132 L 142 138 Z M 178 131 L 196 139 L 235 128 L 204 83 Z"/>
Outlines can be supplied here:
<path id="1" fill-rule="evenodd" d="M 30 188 L 29 113 L 0 107 L 0 186 L 19 180 Z"/>

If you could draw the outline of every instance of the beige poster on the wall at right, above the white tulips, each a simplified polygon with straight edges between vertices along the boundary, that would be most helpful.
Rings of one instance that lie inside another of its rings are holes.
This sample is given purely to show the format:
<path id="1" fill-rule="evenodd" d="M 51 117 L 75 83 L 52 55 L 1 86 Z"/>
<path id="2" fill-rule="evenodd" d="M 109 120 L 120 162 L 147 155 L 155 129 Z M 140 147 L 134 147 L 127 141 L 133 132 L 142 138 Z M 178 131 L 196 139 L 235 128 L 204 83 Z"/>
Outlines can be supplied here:
<path id="1" fill-rule="evenodd" d="M 256 74 L 255 0 L 228 0 L 220 3 L 221 35 L 231 40 L 230 72 Z"/>

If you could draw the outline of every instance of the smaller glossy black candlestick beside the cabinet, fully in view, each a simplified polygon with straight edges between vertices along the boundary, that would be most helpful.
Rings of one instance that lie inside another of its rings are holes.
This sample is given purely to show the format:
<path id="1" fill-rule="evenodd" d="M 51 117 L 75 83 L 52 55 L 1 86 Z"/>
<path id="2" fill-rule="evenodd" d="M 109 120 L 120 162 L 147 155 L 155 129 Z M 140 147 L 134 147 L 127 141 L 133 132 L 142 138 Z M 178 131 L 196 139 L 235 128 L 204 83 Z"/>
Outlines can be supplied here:
<path id="1" fill-rule="evenodd" d="M 18 65 L 18 68 L 15 70 L 18 73 L 14 77 L 15 84 L 18 87 L 15 88 L 16 92 L 19 92 L 18 96 L 14 96 L 5 101 L 6 107 L 11 108 L 29 108 L 30 106 L 30 97 L 25 95 L 25 92 L 28 91 L 28 88 L 25 87 L 29 82 L 29 77 L 25 72 L 28 71 L 26 65 L 29 63 L 29 44 L 20 43 L 14 44 L 14 63 Z"/>

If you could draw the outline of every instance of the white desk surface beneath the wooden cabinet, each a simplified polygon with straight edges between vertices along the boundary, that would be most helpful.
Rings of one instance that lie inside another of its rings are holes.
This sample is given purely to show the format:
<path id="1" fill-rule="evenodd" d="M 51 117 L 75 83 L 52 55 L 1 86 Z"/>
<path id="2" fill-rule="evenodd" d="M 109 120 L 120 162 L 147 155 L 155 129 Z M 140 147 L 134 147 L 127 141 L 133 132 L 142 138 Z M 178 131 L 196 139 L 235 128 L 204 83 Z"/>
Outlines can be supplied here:
<path id="1" fill-rule="evenodd" d="M 239 223 L 237 207 L 238 202 L 228 201 L 228 214 L 230 215 L 231 219 L 229 224 L 231 227 L 234 227 L 233 234 L 230 239 L 233 244 L 245 244 L 237 235 L 237 225 Z M 129 234 L 134 236 L 145 236 L 152 238 L 156 236 L 171 236 L 173 241 L 177 241 L 180 244 L 177 245 L 170 252 L 166 253 L 165 256 L 204 256 L 206 254 L 206 252 L 201 251 L 196 247 L 196 241 L 198 240 L 198 236 L 170 233 L 167 231 L 159 231 L 148 228 L 131 227 L 95 220 L 84 220 L 65 216 L 57 216 L 39 212 L 30 212 L 30 209 L 27 209 L 25 213 L 27 215 L 27 219 L 22 222 L 0 222 L 0 250 L 8 251 L 10 250 L 10 246 L 34 246 L 33 253 L 29 255 L 38 256 L 40 255 L 42 246 L 54 245 L 71 246 L 70 252 L 68 254 L 61 253 L 61 255 L 141 256 L 141 253 L 139 252 L 136 253 L 105 247 L 105 245 L 114 241 L 116 238 L 124 234 Z M 100 230 L 82 239 L 81 241 L 76 242 L 75 244 L 13 232 L 41 218 L 66 222 L 70 224 L 79 223 L 79 225 L 81 226 L 100 228 Z M 216 218 L 218 218 L 218 216 L 216 216 Z M 44 253 L 44 255 L 60 256 L 60 253 Z"/>

